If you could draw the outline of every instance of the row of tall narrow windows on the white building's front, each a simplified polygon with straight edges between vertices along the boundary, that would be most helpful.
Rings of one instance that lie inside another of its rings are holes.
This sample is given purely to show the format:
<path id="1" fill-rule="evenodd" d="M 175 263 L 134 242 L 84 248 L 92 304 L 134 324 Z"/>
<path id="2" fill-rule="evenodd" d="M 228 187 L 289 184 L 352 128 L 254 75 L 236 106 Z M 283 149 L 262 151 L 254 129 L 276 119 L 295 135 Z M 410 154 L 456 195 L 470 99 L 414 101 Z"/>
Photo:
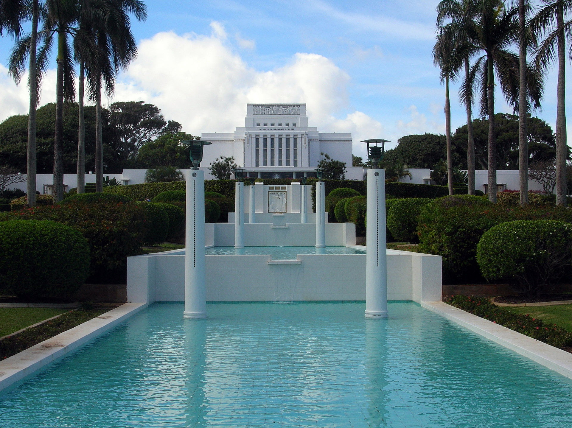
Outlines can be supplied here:
<path id="1" fill-rule="evenodd" d="M 260 157 L 261 149 L 262 157 Z M 255 160 L 257 167 L 297 167 L 298 136 L 255 136 Z M 260 161 L 262 161 L 262 165 L 260 165 Z"/>

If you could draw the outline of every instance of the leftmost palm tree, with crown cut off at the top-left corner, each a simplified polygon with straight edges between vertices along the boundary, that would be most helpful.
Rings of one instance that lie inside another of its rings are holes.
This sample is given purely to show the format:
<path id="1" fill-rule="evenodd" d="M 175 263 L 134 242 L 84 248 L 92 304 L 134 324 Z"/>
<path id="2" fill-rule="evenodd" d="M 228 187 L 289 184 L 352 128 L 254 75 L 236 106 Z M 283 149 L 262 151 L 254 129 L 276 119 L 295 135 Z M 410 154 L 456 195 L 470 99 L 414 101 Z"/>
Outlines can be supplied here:
<path id="1" fill-rule="evenodd" d="M 28 142 L 27 142 L 27 158 L 26 158 L 26 192 L 27 203 L 33 207 L 35 205 L 35 190 L 36 190 L 36 108 L 38 106 L 38 93 L 39 81 L 36 70 L 36 45 L 38 38 L 38 21 L 39 21 L 40 5 L 38 0 L 32 0 L 28 3 L 24 0 L 2 0 L 0 3 L 0 35 L 3 29 L 8 33 L 13 34 L 15 37 L 21 36 L 21 21 L 25 18 L 31 18 L 31 33 L 26 39 L 29 40 L 29 80 L 28 85 L 30 88 L 30 110 L 28 114 Z M 21 45 L 18 43 L 17 46 Z M 22 47 L 22 46 L 21 46 Z M 24 49 L 21 53 L 24 54 Z M 23 73 L 22 66 L 18 69 L 11 67 L 10 61 L 10 74 L 14 80 L 19 83 Z"/>

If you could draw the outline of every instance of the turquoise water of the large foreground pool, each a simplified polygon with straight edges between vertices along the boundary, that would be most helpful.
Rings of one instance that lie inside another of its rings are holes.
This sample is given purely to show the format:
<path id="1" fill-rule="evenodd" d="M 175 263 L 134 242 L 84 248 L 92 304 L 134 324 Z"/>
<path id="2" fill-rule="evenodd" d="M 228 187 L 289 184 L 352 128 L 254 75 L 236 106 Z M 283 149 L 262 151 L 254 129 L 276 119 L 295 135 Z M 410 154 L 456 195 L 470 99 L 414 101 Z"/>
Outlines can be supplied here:
<path id="1" fill-rule="evenodd" d="M 414 303 L 207 309 L 154 304 L 0 396 L 0 426 L 572 426 L 572 381 Z"/>

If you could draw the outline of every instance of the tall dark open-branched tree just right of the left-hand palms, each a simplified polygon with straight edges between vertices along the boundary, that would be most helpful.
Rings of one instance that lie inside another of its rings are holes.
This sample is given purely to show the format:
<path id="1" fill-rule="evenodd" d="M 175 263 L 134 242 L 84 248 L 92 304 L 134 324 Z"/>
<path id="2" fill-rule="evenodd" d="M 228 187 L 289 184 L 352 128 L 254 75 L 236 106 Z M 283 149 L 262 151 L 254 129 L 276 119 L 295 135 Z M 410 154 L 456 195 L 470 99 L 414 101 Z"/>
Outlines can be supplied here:
<path id="1" fill-rule="evenodd" d="M 141 146 L 160 136 L 168 125 L 161 110 L 144 101 L 114 102 L 109 111 L 110 125 L 115 129 L 119 154 L 124 163 L 134 160 Z"/>

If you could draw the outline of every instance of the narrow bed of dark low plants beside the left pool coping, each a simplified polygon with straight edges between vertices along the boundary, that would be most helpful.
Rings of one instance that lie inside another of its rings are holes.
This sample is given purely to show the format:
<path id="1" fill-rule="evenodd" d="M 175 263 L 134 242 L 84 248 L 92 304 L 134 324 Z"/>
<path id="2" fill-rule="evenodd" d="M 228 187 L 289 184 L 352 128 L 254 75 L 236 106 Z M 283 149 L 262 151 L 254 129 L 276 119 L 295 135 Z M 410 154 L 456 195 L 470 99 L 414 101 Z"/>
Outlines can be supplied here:
<path id="1" fill-rule="evenodd" d="M 41 326 L 26 328 L 21 333 L 0 340 L 0 360 L 18 354 L 46 339 L 52 338 L 70 328 L 79 326 L 96 316 L 109 311 L 110 308 L 70 311 L 56 319 L 43 323 Z"/>

